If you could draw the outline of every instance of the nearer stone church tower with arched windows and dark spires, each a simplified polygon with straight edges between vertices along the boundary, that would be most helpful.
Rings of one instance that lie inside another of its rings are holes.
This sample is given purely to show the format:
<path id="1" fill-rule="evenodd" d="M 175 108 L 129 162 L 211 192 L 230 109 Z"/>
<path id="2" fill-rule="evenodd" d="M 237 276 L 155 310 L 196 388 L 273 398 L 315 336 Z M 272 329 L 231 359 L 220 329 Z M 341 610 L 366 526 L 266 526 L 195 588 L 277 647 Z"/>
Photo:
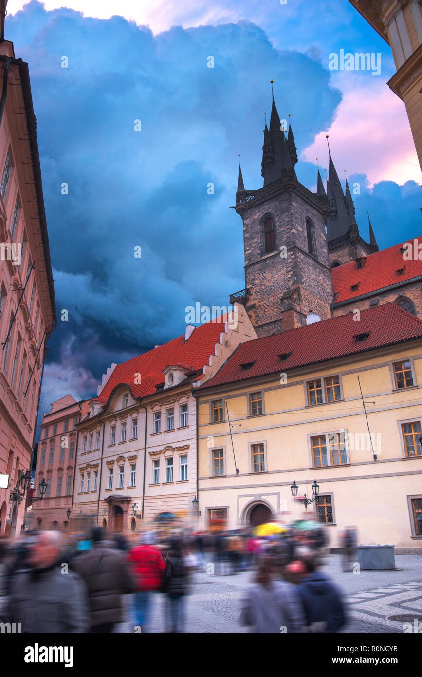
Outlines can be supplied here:
<path id="1" fill-rule="evenodd" d="M 311 312 L 331 318 L 333 301 L 329 202 L 325 192 L 298 181 L 293 132 L 285 138 L 274 99 L 262 150 L 263 188 L 245 190 L 239 168 L 235 209 L 243 221 L 245 289 L 231 295 L 231 303 L 245 305 L 258 336 L 302 326 Z"/>

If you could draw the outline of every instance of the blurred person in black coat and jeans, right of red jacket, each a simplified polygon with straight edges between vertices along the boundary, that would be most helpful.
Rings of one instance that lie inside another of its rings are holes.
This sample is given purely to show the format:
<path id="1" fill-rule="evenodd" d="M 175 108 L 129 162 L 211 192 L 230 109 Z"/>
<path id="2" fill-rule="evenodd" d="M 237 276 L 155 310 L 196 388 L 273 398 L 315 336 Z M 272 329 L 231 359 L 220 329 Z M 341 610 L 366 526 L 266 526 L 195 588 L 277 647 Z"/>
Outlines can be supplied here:
<path id="1" fill-rule="evenodd" d="M 175 539 L 166 557 L 164 592 L 170 603 L 171 621 L 171 630 L 168 632 L 183 632 L 185 626 L 185 595 L 189 590 L 189 569 L 185 565 L 182 548 L 181 540 Z"/>

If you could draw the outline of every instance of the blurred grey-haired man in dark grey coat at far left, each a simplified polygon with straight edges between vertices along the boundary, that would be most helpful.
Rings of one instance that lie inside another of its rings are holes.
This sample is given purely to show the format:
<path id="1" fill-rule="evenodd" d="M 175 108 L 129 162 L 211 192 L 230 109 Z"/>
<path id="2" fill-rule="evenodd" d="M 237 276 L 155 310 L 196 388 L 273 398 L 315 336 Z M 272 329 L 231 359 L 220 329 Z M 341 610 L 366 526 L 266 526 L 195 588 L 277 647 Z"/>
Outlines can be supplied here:
<path id="1" fill-rule="evenodd" d="M 30 544 L 25 568 L 10 580 L 1 622 L 21 624 L 22 633 L 83 633 L 89 628 L 87 589 L 66 571 L 63 535 L 43 531 Z"/>

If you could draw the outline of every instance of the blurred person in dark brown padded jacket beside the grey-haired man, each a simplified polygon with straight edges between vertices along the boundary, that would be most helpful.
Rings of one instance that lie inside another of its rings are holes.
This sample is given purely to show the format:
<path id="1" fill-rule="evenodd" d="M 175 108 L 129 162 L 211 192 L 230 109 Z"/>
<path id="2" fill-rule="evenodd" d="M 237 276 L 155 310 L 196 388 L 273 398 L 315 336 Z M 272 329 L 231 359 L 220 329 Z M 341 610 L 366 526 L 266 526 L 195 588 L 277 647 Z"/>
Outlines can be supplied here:
<path id="1" fill-rule="evenodd" d="M 94 527 L 93 549 L 74 562 L 74 569 L 87 584 L 91 632 L 113 632 L 122 621 L 122 594 L 131 594 L 135 582 L 118 550 L 106 547 L 106 529 Z"/>

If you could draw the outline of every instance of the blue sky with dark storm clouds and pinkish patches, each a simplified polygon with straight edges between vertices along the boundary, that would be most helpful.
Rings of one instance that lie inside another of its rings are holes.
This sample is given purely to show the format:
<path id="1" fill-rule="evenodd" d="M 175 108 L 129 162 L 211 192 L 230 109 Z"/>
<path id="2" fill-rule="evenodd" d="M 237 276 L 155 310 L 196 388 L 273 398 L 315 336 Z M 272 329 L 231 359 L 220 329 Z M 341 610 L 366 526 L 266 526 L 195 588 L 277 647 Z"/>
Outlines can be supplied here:
<path id="1" fill-rule="evenodd" d="M 245 187 L 262 185 L 270 79 L 281 117 L 291 114 L 300 181 L 314 190 L 329 133 L 339 175 L 360 183 L 362 236 L 367 210 L 381 248 L 420 233 L 411 131 L 386 85 L 391 51 L 350 3 L 139 3 L 133 16 L 124 1 L 126 18 L 100 4 L 103 18 L 89 3 L 70 3 L 87 16 L 53 2 L 7 7 L 6 38 L 30 65 L 59 315 L 42 412 L 68 392 L 93 395 L 112 362 L 181 334 L 188 305 L 227 305 L 243 288 L 229 206 L 239 153 Z M 331 72 L 339 49 L 381 53 L 381 74 Z"/>

